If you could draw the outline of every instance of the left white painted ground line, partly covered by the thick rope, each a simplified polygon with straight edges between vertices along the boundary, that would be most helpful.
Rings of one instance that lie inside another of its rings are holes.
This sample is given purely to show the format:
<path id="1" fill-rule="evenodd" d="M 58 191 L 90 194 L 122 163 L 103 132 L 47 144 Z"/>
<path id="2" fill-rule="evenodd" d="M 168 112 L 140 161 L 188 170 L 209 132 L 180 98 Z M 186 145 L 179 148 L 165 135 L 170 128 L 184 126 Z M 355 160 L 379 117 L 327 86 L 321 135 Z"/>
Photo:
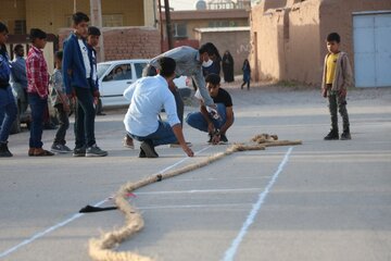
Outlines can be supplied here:
<path id="1" fill-rule="evenodd" d="M 207 146 L 207 147 L 205 147 L 205 148 L 197 151 L 195 154 L 199 154 L 199 153 L 207 150 L 207 149 L 211 148 L 211 147 L 212 147 L 212 146 Z M 186 160 L 188 160 L 188 159 L 191 159 L 191 158 L 186 157 L 186 158 L 181 159 L 180 161 L 176 162 L 175 164 L 167 166 L 167 167 L 164 169 L 163 171 L 160 171 L 159 174 L 163 174 L 164 172 L 166 172 L 166 171 L 175 167 L 176 165 L 182 163 L 184 161 L 186 161 Z M 108 201 L 108 199 L 104 199 L 104 200 L 96 203 L 93 207 L 100 207 L 100 206 L 102 206 L 102 204 L 103 204 L 104 202 L 106 202 L 106 201 Z M 62 222 L 60 222 L 60 223 L 58 223 L 58 224 L 55 224 L 55 225 L 53 225 L 53 226 L 45 229 L 43 232 L 39 232 L 39 233 L 35 234 L 35 235 L 31 236 L 30 238 L 28 238 L 28 239 L 26 239 L 26 240 L 23 240 L 22 243 L 17 244 L 16 246 L 14 246 L 14 247 L 12 247 L 12 248 L 10 248 L 10 249 L 7 249 L 7 250 L 3 251 L 3 252 L 0 252 L 0 258 L 4 258 L 4 257 L 9 256 L 10 253 L 12 253 L 12 252 L 18 250 L 20 248 L 22 248 L 23 246 L 26 246 L 26 245 L 28 245 L 28 244 L 31 244 L 33 241 L 35 241 L 35 240 L 43 237 L 45 235 L 47 235 L 47 234 L 49 234 L 49 233 L 51 233 L 51 232 L 53 232 L 53 231 L 55 231 L 55 229 L 58 229 L 58 228 L 60 228 L 60 227 L 62 227 L 62 226 L 65 226 L 66 224 L 70 224 L 71 222 L 73 222 L 73 221 L 81 217 L 83 215 L 85 215 L 85 214 L 84 214 L 84 213 L 76 213 L 76 214 L 72 215 L 70 219 L 67 219 L 67 220 L 65 220 L 65 221 L 62 221 Z"/>

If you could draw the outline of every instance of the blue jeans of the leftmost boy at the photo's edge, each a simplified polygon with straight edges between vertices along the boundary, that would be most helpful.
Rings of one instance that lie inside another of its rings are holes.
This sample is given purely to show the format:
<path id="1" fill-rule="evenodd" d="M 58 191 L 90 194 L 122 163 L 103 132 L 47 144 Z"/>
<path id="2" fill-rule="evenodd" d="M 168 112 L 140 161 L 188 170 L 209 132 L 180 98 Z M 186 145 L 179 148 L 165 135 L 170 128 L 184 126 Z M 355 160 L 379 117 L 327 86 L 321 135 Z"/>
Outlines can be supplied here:
<path id="1" fill-rule="evenodd" d="M 16 114 L 17 107 L 11 86 L 0 88 L 0 142 L 7 142 Z"/>

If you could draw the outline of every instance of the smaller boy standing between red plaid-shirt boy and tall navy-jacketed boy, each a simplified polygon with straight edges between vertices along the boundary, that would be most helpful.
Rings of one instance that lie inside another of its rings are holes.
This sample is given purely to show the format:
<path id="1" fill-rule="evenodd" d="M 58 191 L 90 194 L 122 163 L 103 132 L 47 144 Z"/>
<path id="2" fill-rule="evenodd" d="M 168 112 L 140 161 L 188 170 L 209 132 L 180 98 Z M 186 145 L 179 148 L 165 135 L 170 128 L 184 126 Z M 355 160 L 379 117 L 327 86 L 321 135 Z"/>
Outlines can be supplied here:
<path id="1" fill-rule="evenodd" d="M 65 145 L 66 130 L 70 127 L 68 114 L 71 112 L 70 100 L 65 92 L 65 87 L 62 77 L 62 60 L 63 52 L 58 51 L 54 54 L 55 69 L 50 77 L 50 99 L 51 104 L 56 111 L 56 117 L 59 120 L 59 129 L 55 133 L 51 151 L 58 153 L 68 153 L 72 150 Z"/>

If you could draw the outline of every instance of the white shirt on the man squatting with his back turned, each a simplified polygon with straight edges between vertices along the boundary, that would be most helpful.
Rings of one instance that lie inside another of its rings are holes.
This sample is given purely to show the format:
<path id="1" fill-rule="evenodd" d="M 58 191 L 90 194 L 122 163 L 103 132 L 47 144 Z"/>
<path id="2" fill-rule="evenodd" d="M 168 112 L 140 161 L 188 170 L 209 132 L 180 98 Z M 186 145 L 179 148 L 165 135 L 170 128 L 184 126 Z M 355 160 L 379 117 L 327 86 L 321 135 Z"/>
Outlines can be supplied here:
<path id="1" fill-rule="evenodd" d="M 162 108 L 171 126 L 180 124 L 174 95 L 165 78 L 160 75 L 138 79 L 124 91 L 124 97 L 130 101 L 124 124 L 133 135 L 146 137 L 155 133 Z"/>

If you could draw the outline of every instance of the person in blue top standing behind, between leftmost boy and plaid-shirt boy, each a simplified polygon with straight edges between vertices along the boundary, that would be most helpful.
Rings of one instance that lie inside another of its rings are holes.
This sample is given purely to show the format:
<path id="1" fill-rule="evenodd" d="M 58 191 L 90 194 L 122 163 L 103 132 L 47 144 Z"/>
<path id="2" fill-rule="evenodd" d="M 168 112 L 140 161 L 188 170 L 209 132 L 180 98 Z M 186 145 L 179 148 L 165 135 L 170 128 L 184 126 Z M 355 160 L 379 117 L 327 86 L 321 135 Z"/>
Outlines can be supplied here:
<path id="1" fill-rule="evenodd" d="M 17 108 L 20 113 L 27 110 L 27 74 L 26 74 L 26 60 L 24 59 L 24 48 L 22 45 L 14 47 L 14 59 L 11 62 L 11 85 L 17 94 Z"/>

